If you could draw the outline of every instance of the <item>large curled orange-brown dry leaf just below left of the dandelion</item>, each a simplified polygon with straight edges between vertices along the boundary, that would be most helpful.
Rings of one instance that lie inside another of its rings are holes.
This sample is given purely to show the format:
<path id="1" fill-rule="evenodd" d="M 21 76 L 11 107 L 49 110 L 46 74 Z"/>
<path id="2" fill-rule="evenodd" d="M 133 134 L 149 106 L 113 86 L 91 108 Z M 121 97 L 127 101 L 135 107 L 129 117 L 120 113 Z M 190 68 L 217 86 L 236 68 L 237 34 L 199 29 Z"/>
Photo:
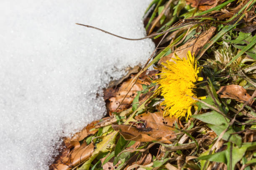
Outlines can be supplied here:
<path id="1" fill-rule="evenodd" d="M 164 117 L 160 112 L 143 113 L 135 117 L 138 121 L 145 124 L 145 128 L 136 128 L 131 125 L 112 125 L 114 130 L 119 130 L 120 134 L 126 140 L 135 140 L 139 142 L 151 142 L 152 140 L 171 143 L 170 140 L 176 138 L 174 135 L 175 119 Z"/>

